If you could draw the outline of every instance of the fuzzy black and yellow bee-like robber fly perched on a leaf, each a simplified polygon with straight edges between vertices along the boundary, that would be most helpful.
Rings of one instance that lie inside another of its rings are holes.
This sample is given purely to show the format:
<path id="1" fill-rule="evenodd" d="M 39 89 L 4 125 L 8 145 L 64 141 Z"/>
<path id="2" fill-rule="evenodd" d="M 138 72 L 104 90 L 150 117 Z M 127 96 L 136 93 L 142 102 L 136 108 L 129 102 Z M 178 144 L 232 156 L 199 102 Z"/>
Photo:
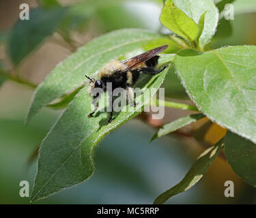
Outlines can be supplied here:
<path id="1" fill-rule="evenodd" d="M 162 67 L 162 69 L 155 69 L 155 67 L 158 65 L 158 54 L 162 52 L 163 50 L 167 49 L 168 46 L 160 46 L 158 48 L 154 48 L 152 50 L 149 50 L 147 52 L 144 52 L 141 55 L 137 55 L 135 57 L 132 57 L 126 61 L 117 61 L 113 60 L 104 65 L 102 69 L 100 69 L 99 72 L 99 80 L 95 80 L 94 78 L 89 78 L 89 76 L 86 76 L 90 80 L 90 93 L 94 93 L 95 88 L 103 89 L 103 91 L 106 91 L 106 83 L 110 82 L 112 84 L 112 90 L 116 88 L 123 88 L 126 89 L 126 93 L 128 94 L 128 102 L 132 104 L 132 106 L 136 106 L 136 103 L 134 102 L 134 93 L 131 88 L 132 84 L 137 81 L 139 78 L 140 73 L 144 74 L 150 74 L 152 76 L 159 74 L 162 72 L 168 65 L 165 65 Z M 97 93 L 94 95 L 94 100 L 91 104 L 94 104 L 94 111 L 91 112 L 88 116 L 91 117 L 96 110 L 98 110 L 98 97 L 100 93 Z M 109 96 L 111 96 L 111 104 L 112 104 L 112 110 L 110 112 L 109 116 L 109 123 L 113 121 L 113 92 L 109 93 Z"/>

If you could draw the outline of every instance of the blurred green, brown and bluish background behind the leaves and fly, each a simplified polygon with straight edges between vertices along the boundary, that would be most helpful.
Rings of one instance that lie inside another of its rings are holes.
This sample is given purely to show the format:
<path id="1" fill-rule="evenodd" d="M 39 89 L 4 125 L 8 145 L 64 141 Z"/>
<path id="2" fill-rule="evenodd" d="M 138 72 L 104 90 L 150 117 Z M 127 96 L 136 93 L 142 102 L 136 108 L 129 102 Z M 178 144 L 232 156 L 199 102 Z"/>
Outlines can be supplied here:
<path id="1" fill-rule="evenodd" d="M 46 7 L 53 2 L 0 1 L 1 63 L 5 69 L 18 71 L 23 78 L 35 84 L 72 53 L 69 40 L 72 46 L 78 47 L 102 33 L 130 27 L 166 32 L 158 20 L 163 1 L 110 1 L 100 4 L 100 7 L 97 6 L 97 0 L 80 1 L 88 4 L 84 7 L 74 6 L 70 16 L 61 25 L 62 37 L 54 33 L 33 55 L 24 59 L 18 69 L 15 68 L 7 55 L 6 42 L 18 19 L 20 3 L 28 3 L 33 8 L 38 5 Z M 79 2 L 59 0 L 59 3 L 70 6 Z M 255 44 L 256 14 L 252 11 L 238 14 L 235 20 L 230 21 L 232 35 L 225 34 L 230 26 L 220 26 L 212 48 Z M 169 75 L 165 87 L 169 88 L 167 97 L 186 99 L 184 89 L 175 75 Z M 32 190 L 36 160 L 29 165 L 29 158 L 61 113 L 61 110 L 45 108 L 25 126 L 25 114 L 32 96 L 33 89 L 16 82 L 6 81 L 0 87 L 0 204 L 29 203 L 28 198 L 20 198 L 19 183 L 29 181 Z M 186 113 L 177 109 L 167 110 L 162 122 L 166 123 Z M 184 177 L 196 157 L 205 149 L 195 140 L 177 135 L 165 136 L 150 143 L 156 125 L 158 123 L 141 116 L 119 127 L 98 144 L 96 172 L 88 181 L 34 204 L 152 204 L 162 191 L 173 187 Z M 188 128 L 193 129 L 193 126 Z M 224 183 L 228 180 L 235 184 L 234 198 L 224 196 Z M 195 187 L 174 196 L 167 203 L 255 204 L 256 191 L 234 174 L 225 159 L 218 157 Z"/>

